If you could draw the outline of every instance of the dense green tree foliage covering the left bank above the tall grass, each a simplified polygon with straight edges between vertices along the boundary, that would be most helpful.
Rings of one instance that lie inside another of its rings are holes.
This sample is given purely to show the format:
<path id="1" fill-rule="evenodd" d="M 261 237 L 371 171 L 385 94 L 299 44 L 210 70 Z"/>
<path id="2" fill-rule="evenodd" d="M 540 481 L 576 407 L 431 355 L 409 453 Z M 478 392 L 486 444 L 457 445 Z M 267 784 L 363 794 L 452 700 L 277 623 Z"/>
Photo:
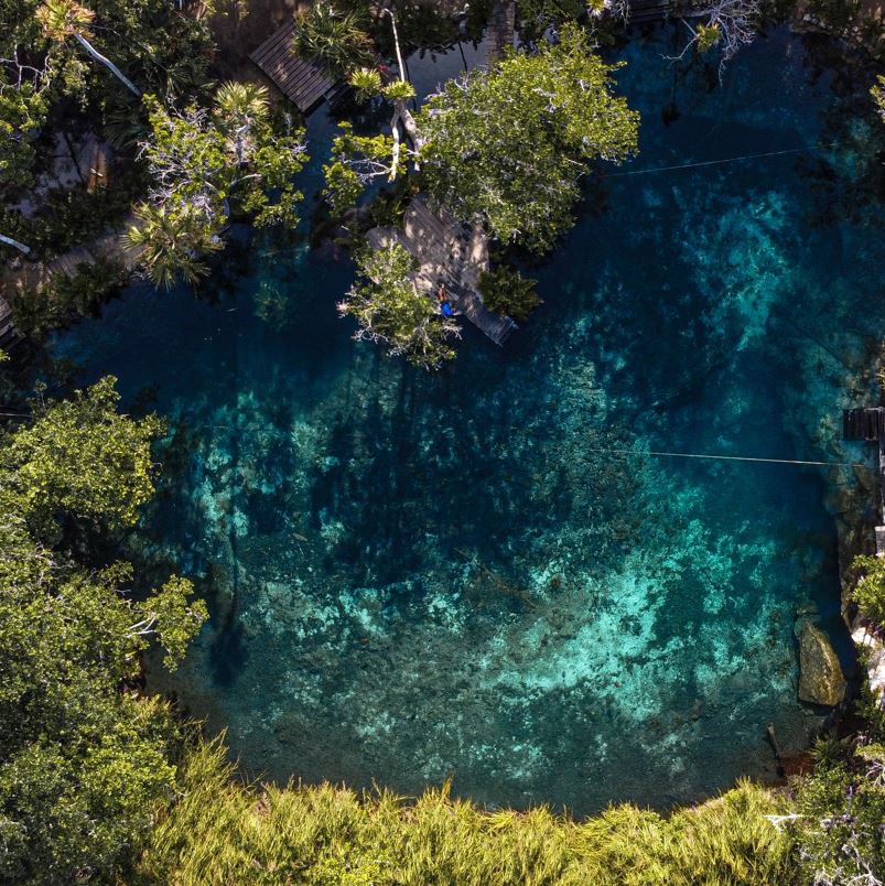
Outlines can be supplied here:
<path id="1" fill-rule="evenodd" d="M 170 800 L 169 707 L 120 687 L 160 636 L 169 661 L 206 617 L 173 577 L 134 603 L 131 569 L 86 570 L 46 540 L 56 517 L 130 525 L 151 491 L 159 422 L 118 415 L 112 380 L 62 403 L 0 450 L 0 880 L 112 879 Z"/>

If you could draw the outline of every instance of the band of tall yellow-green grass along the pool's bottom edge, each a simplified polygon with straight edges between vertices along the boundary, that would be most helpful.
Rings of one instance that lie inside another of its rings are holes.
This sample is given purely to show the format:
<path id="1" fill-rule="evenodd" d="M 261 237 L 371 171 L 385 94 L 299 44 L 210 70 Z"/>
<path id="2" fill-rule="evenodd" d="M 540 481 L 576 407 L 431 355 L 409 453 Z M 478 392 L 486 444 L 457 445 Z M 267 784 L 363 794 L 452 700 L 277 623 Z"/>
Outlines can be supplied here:
<path id="1" fill-rule="evenodd" d="M 795 879 L 790 839 L 764 818 L 779 807 L 748 781 L 669 818 L 619 806 L 583 822 L 483 811 L 447 787 L 413 801 L 327 784 L 245 787 L 216 741 L 183 760 L 136 883 L 783 886 Z"/>

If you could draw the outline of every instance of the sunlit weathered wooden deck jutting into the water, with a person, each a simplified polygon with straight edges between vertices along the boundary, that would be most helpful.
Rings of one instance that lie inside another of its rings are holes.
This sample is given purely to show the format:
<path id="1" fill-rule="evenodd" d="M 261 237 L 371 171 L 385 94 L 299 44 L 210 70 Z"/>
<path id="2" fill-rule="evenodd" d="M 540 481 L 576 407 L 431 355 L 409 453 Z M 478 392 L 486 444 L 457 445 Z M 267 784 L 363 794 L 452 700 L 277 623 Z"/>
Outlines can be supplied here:
<path id="1" fill-rule="evenodd" d="M 373 228 L 367 238 L 374 249 L 391 242 L 403 246 L 420 266 L 413 275 L 417 289 L 432 299 L 442 282 L 455 313 L 467 317 L 496 345 L 503 345 L 517 328 L 510 317 L 494 314 L 483 304 L 478 281 L 488 269 L 488 244 L 481 226 L 468 229 L 418 196 L 406 210 L 402 230 Z"/>

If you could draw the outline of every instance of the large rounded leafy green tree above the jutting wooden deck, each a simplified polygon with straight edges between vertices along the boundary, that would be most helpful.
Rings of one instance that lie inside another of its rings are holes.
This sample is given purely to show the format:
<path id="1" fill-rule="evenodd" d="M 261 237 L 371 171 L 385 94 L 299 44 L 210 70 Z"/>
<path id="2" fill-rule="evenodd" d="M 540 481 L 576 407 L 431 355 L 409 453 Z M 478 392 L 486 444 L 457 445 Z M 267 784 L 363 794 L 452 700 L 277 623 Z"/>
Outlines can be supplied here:
<path id="1" fill-rule="evenodd" d="M 572 224 L 585 161 L 636 150 L 638 115 L 612 95 L 612 71 L 566 26 L 557 45 L 447 83 L 418 118 L 428 188 L 498 239 L 549 250 Z"/>

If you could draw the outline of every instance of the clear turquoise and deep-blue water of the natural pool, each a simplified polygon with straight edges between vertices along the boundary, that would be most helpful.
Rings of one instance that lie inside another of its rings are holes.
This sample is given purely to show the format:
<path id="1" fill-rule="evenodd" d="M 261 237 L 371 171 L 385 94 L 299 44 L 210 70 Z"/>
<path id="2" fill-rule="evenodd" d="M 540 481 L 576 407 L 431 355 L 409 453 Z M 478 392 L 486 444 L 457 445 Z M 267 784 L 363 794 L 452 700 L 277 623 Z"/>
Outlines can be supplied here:
<path id="1" fill-rule="evenodd" d="M 767 724 L 787 749 L 820 724 L 794 618 L 845 648 L 853 472 L 641 453 L 862 455 L 838 437 L 885 321 L 882 139 L 863 78 L 783 32 L 722 87 L 667 52 L 623 53 L 641 155 L 589 185 L 505 350 L 467 328 L 427 376 L 352 342 L 350 266 L 300 235 L 240 237 L 199 299 L 137 287 L 55 343 L 172 421 L 132 550 L 213 618 L 151 681 L 248 772 L 666 807 L 773 776 Z"/>

